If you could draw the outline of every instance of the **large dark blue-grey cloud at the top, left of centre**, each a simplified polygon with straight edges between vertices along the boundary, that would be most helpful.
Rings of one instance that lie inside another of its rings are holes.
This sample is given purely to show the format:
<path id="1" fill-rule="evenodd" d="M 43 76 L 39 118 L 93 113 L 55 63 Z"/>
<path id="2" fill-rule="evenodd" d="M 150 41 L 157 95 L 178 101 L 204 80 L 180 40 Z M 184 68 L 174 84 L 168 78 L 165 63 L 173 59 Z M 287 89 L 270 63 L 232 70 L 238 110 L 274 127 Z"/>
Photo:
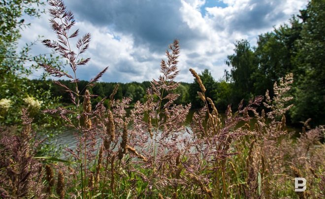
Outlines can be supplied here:
<path id="1" fill-rule="evenodd" d="M 135 46 L 150 44 L 155 52 L 175 38 L 198 36 L 182 22 L 179 0 L 69 0 L 66 4 L 78 20 L 131 34 Z"/>

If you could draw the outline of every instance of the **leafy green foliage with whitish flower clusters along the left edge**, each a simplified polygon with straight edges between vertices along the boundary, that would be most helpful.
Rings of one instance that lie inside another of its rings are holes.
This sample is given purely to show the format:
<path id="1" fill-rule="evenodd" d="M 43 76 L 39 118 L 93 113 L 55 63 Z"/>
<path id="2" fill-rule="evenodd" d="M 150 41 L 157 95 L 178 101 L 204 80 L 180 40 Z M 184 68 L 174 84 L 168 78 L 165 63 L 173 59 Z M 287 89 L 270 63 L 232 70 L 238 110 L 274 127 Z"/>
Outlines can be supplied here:
<path id="1" fill-rule="evenodd" d="M 58 103 L 58 98 L 52 98 L 51 94 L 44 90 L 35 90 L 35 86 L 27 79 L 38 66 L 35 62 L 45 61 L 59 67 L 59 57 L 52 55 L 31 56 L 30 50 L 35 42 L 26 44 L 20 51 L 17 50 L 20 30 L 30 26 L 22 18 L 25 16 L 39 17 L 43 2 L 39 0 L 2 0 L 0 2 L 0 100 L 10 100 L 11 106 L 5 114 L 1 114 L 0 123 L 15 125 L 19 122 L 20 110 L 26 105 L 24 99 L 34 98 L 43 101 L 39 108 Z M 31 65 L 30 65 L 31 64 Z M 44 77 L 45 78 L 45 75 Z M 34 110 L 36 111 L 36 110 Z M 38 112 L 39 113 L 39 112 Z M 36 113 L 33 113 L 37 115 Z M 36 117 L 36 123 L 42 123 L 45 118 Z"/>

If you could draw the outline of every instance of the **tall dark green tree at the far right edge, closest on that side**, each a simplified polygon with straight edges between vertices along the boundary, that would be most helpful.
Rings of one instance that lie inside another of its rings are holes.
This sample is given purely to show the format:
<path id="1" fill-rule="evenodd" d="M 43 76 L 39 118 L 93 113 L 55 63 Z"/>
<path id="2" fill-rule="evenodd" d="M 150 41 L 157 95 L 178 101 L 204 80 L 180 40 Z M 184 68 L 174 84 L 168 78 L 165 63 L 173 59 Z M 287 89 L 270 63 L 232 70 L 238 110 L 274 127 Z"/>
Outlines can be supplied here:
<path id="1" fill-rule="evenodd" d="M 292 119 L 312 118 L 313 125 L 325 121 L 325 1 L 312 0 L 301 12 L 301 39 L 295 57 L 295 90 Z"/>

